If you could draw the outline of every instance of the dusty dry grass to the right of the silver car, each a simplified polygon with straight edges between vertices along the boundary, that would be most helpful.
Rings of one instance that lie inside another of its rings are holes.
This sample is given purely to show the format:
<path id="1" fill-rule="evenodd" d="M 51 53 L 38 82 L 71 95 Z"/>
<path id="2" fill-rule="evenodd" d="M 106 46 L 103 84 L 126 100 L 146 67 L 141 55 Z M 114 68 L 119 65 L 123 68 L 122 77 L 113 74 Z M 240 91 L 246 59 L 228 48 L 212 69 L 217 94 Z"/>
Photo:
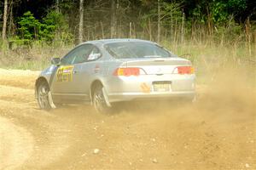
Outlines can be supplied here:
<path id="1" fill-rule="evenodd" d="M 221 71 L 233 70 L 238 71 L 250 84 L 256 85 L 255 44 L 252 44 L 251 54 L 245 42 L 239 45 L 195 42 L 176 45 L 165 42 L 164 46 L 177 55 L 185 54 L 183 57 L 192 61 L 200 84 L 211 83 Z"/>

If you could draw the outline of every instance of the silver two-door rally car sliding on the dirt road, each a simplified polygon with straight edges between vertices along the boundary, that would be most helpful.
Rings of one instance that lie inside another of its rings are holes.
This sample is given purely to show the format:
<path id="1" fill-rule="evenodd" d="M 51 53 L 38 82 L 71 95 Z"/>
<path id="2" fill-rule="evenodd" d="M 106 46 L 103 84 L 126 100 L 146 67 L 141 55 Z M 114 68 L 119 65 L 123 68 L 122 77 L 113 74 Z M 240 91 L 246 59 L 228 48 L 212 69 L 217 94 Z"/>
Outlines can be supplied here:
<path id="1" fill-rule="evenodd" d="M 106 112 L 116 102 L 194 99 L 191 62 L 155 42 L 106 39 L 83 42 L 64 57 L 51 59 L 35 92 L 41 109 L 88 103 Z"/>

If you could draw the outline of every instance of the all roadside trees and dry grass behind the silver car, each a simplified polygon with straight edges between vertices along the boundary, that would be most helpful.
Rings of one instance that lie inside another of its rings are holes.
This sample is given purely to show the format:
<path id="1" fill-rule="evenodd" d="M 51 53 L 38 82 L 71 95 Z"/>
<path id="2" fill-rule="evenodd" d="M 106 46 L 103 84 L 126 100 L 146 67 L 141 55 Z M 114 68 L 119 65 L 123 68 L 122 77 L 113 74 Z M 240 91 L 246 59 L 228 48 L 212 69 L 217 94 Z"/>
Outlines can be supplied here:
<path id="1" fill-rule="evenodd" d="M 201 82 L 228 67 L 255 82 L 255 23 L 253 0 L 2 0 L 0 67 L 42 70 L 79 42 L 127 37 L 190 59 Z"/>

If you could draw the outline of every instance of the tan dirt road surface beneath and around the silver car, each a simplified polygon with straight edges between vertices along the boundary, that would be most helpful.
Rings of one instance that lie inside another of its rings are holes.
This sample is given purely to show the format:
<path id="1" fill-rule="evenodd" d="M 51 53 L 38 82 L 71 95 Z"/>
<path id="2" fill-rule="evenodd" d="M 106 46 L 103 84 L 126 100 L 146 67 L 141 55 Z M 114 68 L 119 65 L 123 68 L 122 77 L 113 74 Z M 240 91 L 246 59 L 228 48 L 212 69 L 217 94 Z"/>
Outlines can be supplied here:
<path id="1" fill-rule="evenodd" d="M 246 86 L 199 87 L 194 105 L 107 116 L 90 106 L 38 110 L 37 76 L 0 69 L 1 170 L 256 169 L 256 95 Z"/>

